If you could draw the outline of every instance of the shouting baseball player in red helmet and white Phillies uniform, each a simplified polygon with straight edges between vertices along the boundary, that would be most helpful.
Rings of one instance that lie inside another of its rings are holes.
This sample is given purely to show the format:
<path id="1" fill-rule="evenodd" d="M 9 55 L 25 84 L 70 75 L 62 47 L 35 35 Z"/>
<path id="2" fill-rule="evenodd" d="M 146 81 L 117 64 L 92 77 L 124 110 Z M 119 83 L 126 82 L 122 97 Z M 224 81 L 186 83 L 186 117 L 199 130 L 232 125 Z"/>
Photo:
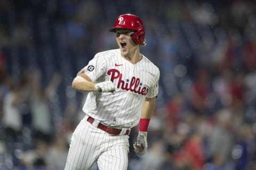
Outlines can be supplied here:
<path id="1" fill-rule="evenodd" d="M 159 69 L 140 53 L 145 27 L 132 14 L 118 16 L 109 31 L 119 49 L 97 53 L 72 87 L 89 92 L 85 117 L 72 137 L 65 169 L 127 169 L 129 133 L 139 124 L 134 151 L 145 154 L 147 129 L 158 94 Z"/>

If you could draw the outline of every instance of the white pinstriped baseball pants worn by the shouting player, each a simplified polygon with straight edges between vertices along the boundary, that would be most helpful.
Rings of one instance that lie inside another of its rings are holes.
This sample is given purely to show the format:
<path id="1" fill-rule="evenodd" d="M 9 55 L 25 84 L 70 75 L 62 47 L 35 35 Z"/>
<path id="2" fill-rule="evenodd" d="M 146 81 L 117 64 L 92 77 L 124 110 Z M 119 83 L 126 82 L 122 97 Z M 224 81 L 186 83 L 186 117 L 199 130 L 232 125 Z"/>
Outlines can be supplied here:
<path id="1" fill-rule="evenodd" d="M 100 170 L 127 169 L 129 135 L 111 136 L 86 121 L 74 131 L 65 170 L 90 169 L 97 161 Z"/>

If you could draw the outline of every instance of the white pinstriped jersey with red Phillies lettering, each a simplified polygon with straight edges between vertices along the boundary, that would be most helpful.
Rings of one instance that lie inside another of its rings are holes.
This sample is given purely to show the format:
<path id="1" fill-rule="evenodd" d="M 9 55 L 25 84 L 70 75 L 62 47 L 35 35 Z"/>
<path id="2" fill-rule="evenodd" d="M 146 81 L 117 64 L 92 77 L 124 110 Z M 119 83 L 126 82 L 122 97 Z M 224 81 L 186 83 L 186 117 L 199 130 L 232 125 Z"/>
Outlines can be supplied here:
<path id="1" fill-rule="evenodd" d="M 89 92 L 83 111 L 103 124 L 132 128 L 139 123 L 145 97 L 158 94 L 159 69 L 147 57 L 132 64 L 121 56 L 120 49 L 97 53 L 83 68 L 93 82 L 111 80 L 116 93 Z"/>

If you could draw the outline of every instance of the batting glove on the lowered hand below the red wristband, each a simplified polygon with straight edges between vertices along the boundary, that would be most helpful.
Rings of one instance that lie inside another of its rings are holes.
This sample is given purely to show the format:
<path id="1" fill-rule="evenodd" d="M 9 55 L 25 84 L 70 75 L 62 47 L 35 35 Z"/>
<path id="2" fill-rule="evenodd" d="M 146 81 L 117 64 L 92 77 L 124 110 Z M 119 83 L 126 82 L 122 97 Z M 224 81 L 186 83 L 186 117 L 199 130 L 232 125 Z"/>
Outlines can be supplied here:
<path id="1" fill-rule="evenodd" d="M 133 144 L 134 152 L 139 155 L 145 154 L 148 148 L 147 132 L 139 131 L 137 141 Z"/>

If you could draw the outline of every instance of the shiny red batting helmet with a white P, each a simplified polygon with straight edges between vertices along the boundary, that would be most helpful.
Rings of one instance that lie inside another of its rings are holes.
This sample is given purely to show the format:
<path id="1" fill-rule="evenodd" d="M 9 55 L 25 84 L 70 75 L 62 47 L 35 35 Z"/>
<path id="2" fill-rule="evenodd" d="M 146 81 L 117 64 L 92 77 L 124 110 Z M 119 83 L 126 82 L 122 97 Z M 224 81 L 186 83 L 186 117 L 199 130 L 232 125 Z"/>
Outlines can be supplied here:
<path id="1" fill-rule="evenodd" d="M 123 14 L 117 17 L 115 26 L 109 31 L 116 32 L 117 28 L 124 28 L 134 30 L 132 34 L 132 39 L 135 43 L 141 44 L 145 41 L 145 27 L 142 20 L 132 14 Z"/>

